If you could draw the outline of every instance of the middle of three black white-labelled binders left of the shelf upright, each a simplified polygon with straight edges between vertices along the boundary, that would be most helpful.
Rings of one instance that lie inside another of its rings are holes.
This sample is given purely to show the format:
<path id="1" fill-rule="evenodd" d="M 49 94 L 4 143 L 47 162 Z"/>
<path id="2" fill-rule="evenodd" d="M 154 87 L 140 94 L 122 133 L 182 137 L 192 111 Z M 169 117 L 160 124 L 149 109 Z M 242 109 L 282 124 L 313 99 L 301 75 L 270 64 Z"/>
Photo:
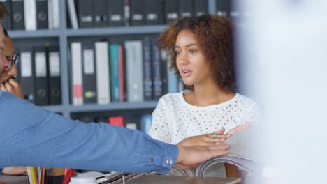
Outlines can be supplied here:
<path id="1" fill-rule="evenodd" d="M 34 98 L 35 105 L 48 105 L 48 72 L 45 47 L 34 47 Z"/>

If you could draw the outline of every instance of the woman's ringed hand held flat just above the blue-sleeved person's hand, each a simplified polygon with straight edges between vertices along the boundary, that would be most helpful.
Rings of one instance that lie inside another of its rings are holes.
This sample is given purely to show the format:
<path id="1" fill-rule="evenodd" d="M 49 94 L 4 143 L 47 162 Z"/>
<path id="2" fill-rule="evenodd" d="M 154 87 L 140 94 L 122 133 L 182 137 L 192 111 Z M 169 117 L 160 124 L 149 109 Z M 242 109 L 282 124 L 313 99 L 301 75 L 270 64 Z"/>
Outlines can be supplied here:
<path id="1" fill-rule="evenodd" d="M 217 144 L 219 142 L 224 142 L 231 135 L 223 134 L 225 132 L 224 128 L 221 128 L 215 133 L 204 134 L 198 136 L 192 136 L 184 139 L 179 143 L 181 146 L 210 146 Z"/>

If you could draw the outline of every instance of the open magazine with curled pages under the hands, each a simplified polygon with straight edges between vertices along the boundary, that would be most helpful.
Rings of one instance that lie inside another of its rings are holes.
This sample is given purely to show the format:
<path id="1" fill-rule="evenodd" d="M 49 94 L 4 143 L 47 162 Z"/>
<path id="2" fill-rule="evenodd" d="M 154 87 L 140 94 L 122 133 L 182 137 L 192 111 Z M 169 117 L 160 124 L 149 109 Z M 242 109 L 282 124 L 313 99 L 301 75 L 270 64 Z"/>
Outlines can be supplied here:
<path id="1" fill-rule="evenodd" d="M 170 169 L 168 175 L 175 176 L 205 176 L 211 167 L 219 163 L 234 164 L 240 169 L 244 169 L 254 176 L 261 177 L 263 173 L 263 166 L 258 162 L 256 153 L 256 126 L 242 130 L 230 137 L 226 142 L 231 145 L 228 155 L 212 158 L 203 162 L 194 169 L 182 170 L 177 166 Z"/>

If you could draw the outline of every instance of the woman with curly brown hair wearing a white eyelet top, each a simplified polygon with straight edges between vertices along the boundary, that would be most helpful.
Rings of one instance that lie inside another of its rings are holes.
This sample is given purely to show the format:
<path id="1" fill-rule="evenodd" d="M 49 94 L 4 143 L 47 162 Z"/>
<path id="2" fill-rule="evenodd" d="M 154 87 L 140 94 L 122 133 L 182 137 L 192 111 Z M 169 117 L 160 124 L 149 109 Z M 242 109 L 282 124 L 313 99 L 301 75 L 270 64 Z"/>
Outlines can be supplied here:
<path id="1" fill-rule="evenodd" d="M 224 17 L 201 15 L 176 20 L 161 33 L 157 45 L 189 89 L 159 99 L 150 129 L 154 139 L 210 145 L 259 121 L 256 102 L 233 92 L 232 26 Z"/>

